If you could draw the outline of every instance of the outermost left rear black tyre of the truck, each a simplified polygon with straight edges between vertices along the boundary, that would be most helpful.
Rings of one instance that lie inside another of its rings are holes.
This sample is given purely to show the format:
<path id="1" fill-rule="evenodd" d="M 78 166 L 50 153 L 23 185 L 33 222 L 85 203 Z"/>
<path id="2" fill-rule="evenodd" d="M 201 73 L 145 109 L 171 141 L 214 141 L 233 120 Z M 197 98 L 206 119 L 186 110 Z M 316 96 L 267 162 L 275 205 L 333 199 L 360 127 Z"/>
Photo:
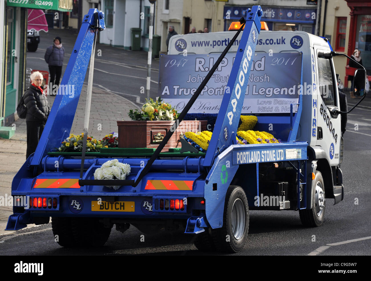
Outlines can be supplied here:
<path id="1" fill-rule="evenodd" d="M 52 217 L 54 239 L 62 247 L 73 247 L 76 244 L 72 233 L 71 219 Z"/>

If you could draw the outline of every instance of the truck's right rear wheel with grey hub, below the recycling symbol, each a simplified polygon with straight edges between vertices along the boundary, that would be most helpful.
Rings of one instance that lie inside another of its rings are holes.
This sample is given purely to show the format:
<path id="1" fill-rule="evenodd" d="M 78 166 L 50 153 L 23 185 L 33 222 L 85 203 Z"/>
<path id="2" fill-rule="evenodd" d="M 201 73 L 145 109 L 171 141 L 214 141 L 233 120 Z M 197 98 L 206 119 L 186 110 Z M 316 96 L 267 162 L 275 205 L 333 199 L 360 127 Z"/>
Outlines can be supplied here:
<path id="1" fill-rule="evenodd" d="M 211 230 L 215 248 L 223 252 L 240 252 L 249 232 L 249 205 L 240 186 L 229 186 L 224 204 L 223 226 Z"/>

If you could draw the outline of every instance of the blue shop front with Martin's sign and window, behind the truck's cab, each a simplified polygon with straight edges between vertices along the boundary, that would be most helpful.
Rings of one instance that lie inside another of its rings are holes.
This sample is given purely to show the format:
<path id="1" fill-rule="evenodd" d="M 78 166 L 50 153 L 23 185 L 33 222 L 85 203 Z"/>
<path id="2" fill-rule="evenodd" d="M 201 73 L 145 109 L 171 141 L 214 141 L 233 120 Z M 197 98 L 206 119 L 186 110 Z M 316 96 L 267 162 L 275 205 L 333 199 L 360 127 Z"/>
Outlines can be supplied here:
<path id="1" fill-rule="evenodd" d="M 244 6 L 224 6 L 224 31 L 232 22 L 244 16 Z M 281 8 L 262 6 L 263 16 L 261 21 L 266 22 L 269 30 L 305 31 L 314 33 L 316 23 L 316 9 L 301 9 L 299 7 Z"/>

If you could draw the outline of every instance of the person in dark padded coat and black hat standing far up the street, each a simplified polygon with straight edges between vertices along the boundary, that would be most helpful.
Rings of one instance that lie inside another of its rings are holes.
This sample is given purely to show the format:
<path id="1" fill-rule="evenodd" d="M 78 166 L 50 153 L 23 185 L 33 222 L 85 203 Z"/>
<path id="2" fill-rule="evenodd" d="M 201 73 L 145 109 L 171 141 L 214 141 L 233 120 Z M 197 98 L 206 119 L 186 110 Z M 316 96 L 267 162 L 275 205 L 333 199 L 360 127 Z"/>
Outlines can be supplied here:
<path id="1" fill-rule="evenodd" d="M 57 36 L 54 38 L 54 44 L 46 49 L 44 56 L 46 63 L 49 65 L 50 83 L 52 85 L 59 85 L 64 56 L 65 48 L 62 46 L 62 40 Z"/>

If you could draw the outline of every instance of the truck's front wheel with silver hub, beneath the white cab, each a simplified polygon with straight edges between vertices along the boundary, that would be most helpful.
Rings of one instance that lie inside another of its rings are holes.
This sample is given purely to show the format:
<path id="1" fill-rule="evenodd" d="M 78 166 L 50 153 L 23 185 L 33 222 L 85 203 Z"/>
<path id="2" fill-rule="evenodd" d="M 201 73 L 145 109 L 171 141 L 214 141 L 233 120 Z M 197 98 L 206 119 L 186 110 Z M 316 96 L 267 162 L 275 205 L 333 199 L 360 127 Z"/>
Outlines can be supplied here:
<path id="1" fill-rule="evenodd" d="M 302 224 L 306 227 L 319 227 L 325 218 L 325 184 L 322 174 L 316 171 L 312 181 L 312 208 L 299 210 Z"/>

